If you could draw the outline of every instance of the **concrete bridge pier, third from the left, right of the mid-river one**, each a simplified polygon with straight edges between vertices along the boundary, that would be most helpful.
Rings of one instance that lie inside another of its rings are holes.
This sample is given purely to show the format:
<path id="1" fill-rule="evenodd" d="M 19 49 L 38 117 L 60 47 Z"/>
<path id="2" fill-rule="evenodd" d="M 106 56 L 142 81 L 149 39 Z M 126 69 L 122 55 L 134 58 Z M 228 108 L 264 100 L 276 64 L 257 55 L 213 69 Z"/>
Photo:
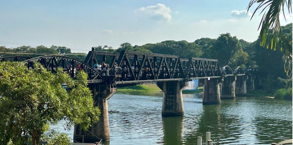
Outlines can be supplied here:
<path id="1" fill-rule="evenodd" d="M 203 84 L 202 104 L 220 104 L 220 84 L 222 78 L 211 78 L 201 80 Z"/>

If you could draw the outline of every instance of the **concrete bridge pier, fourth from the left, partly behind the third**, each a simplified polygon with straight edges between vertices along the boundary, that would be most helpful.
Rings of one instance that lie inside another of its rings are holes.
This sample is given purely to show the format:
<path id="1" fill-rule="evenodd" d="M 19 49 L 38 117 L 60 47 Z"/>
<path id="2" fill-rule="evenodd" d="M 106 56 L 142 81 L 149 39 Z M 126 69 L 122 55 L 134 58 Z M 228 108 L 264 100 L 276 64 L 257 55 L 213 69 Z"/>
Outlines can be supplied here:
<path id="1" fill-rule="evenodd" d="M 221 99 L 235 99 L 236 76 L 227 76 L 221 85 Z"/>

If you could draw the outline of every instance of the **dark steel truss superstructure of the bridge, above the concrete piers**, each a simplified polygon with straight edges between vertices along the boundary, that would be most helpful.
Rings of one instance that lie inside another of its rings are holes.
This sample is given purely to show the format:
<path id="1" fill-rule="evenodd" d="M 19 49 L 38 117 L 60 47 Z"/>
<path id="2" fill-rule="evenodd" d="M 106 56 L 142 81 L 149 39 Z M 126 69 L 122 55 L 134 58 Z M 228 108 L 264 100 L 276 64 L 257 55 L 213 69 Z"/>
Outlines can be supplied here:
<path id="1" fill-rule="evenodd" d="M 249 75 L 258 72 L 258 68 L 225 66 L 225 73 L 216 59 L 194 58 L 180 59 L 179 56 L 146 53 L 138 51 L 122 51 L 111 53 L 89 51 L 84 62 L 77 59 L 49 55 L 40 57 L 12 56 L 2 57 L 0 61 L 23 61 L 29 69 L 34 63 L 41 63 L 48 71 L 56 73 L 61 67 L 71 78 L 83 70 L 88 74 L 88 83 L 130 84 L 160 81 L 190 81 L 192 79 L 223 78 L 231 75 Z M 94 69 L 94 64 L 109 64 L 107 70 Z M 114 64 L 117 63 L 117 67 Z"/>

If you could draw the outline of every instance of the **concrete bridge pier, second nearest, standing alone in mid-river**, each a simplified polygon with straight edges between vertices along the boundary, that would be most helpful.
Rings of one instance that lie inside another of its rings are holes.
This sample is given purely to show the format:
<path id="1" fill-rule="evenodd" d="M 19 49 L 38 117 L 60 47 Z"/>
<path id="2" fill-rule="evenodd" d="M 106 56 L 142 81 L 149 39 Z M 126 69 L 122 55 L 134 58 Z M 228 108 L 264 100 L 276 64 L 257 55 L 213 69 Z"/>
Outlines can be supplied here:
<path id="1" fill-rule="evenodd" d="M 163 91 L 162 116 L 183 116 L 182 90 L 188 86 L 188 82 L 157 82 L 157 86 Z"/>

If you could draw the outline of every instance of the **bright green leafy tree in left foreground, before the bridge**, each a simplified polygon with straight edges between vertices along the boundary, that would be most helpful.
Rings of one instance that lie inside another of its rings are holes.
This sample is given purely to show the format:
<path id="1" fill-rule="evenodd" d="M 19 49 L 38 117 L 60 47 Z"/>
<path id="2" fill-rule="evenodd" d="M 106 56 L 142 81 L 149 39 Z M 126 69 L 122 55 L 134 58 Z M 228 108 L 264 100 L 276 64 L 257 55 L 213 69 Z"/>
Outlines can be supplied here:
<path id="1" fill-rule="evenodd" d="M 58 68 L 56 74 L 36 63 L 28 70 L 23 62 L 0 62 L 0 142 L 24 144 L 31 136 L 33 145 L 48 131 L 49 123 L 67 121 L 83 129 L 91 120 L 99 120 L 99 109 L 93 106 L 87 75 L 81 71 L 74 81 Z M 67 84 L 65 90 L 61 85 Z"/>

